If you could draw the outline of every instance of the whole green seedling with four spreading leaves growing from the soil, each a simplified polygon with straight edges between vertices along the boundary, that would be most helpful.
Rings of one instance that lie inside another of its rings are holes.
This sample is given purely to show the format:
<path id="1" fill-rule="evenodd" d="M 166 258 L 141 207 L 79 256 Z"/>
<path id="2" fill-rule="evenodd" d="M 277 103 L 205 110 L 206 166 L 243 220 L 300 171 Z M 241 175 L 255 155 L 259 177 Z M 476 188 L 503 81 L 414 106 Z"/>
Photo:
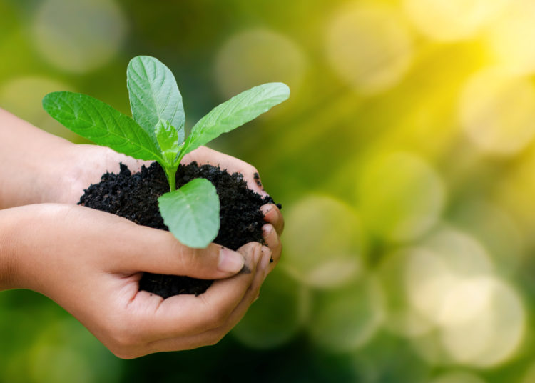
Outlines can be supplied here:
<path id="1" fill-rule="evenodd" d="M 85 94 L 58 91 L 43 99 L 44 109 L 68 129 L 95 144 L 146 161 L 158 161 L 169 182 L 158 198 L 163 221 L 189 247 L 207 247 L 219 231 L 219 198 L 207 179 L 175 187 L 178 164 L 185 154 L 208 144 L 290 96 L 282 83 L 255 86 L 216 106 L 185 139 L 185 114 L 175 77 L 153 57 L 137 56 L 128 64 L 126 86 L 132 117 Z"/>

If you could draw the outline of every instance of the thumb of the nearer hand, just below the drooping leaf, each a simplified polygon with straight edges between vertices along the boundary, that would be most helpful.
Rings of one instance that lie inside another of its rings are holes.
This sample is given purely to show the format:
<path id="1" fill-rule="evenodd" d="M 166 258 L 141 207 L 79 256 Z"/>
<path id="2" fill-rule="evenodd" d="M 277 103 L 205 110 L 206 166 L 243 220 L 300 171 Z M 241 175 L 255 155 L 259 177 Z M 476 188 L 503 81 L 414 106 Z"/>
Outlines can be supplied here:
<path id="1" fill-rule="evenodd" d="M 132 272 L 220 279 L 243 268 L 243 255 L 218 244 L 192 249 L 178 242 L 169 232 L 147 227 L 137 229 L 125 244 L 129 251 L 124 252 L 125 257 L 116 263 L 122 270 L 129 268 Z"/>

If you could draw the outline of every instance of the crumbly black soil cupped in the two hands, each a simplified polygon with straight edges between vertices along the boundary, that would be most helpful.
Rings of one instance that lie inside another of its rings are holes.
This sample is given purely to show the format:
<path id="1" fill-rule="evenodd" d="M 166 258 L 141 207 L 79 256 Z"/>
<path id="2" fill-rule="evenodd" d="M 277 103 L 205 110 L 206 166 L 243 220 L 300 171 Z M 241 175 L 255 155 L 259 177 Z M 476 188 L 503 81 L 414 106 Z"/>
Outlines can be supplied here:
<path id="1" fill-rule="evenodd" d="M 242 174 L 229 174 L 211 165 L 198 166 L 195 162 L 180 165 L 176 173 L 177 189 L 195 178 L 211 181 L 220 199 L 220 230 L 214 242 L 236 250 L 248 242 L 263 242 L 263 204 L 272 203 L 271 197 L 262 197 L 248 189 Z M 255 181 L 260 179 L 255 174 Z M 81 204 L 93 209 L 117 214 L 136 224 L 168 230 L 158 211 L 158 197 L 169 191 L 165 173 L 156 162 L 148 168 L 143 166 L 138 173 L 131 174 L 121 164 L 119 174 L 103 174 L 98 184 L 86 189 L 80 198 Z M 144 273 L 139 289 L 163 298 L 177 294 L 202 294 L 213 281 L 184 276 Z"/>

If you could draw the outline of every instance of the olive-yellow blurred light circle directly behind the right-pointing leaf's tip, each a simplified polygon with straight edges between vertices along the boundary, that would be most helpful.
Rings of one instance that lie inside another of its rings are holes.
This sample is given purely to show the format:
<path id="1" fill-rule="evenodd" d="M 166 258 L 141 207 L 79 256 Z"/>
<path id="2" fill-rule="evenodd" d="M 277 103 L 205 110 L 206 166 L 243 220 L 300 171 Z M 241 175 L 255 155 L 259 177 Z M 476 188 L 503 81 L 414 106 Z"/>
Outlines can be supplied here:
<path id="1" fill-rule="evenodd" d="M 295 42 L 267 29 L 235 34 L 215 57 L 215 79 L 225 97 L 266 82 L 282 81 L 297 92 L 307 61 Z"/>

